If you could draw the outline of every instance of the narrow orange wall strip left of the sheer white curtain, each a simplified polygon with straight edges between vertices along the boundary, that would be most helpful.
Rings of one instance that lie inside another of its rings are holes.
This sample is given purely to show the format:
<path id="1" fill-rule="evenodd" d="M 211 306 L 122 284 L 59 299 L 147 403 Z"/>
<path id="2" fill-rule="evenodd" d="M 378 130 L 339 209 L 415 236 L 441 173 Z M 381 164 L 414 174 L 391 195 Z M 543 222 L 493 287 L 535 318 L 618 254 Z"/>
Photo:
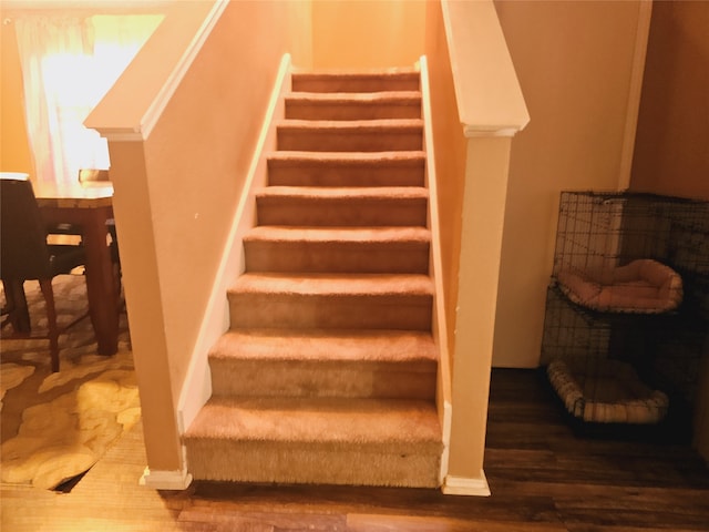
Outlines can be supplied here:
<path id="1" fill-rule="evenodd" d="M 22 69 L 12 23 L 0 11 L 0 171 L 33 173 L 24 122 Z"/>

